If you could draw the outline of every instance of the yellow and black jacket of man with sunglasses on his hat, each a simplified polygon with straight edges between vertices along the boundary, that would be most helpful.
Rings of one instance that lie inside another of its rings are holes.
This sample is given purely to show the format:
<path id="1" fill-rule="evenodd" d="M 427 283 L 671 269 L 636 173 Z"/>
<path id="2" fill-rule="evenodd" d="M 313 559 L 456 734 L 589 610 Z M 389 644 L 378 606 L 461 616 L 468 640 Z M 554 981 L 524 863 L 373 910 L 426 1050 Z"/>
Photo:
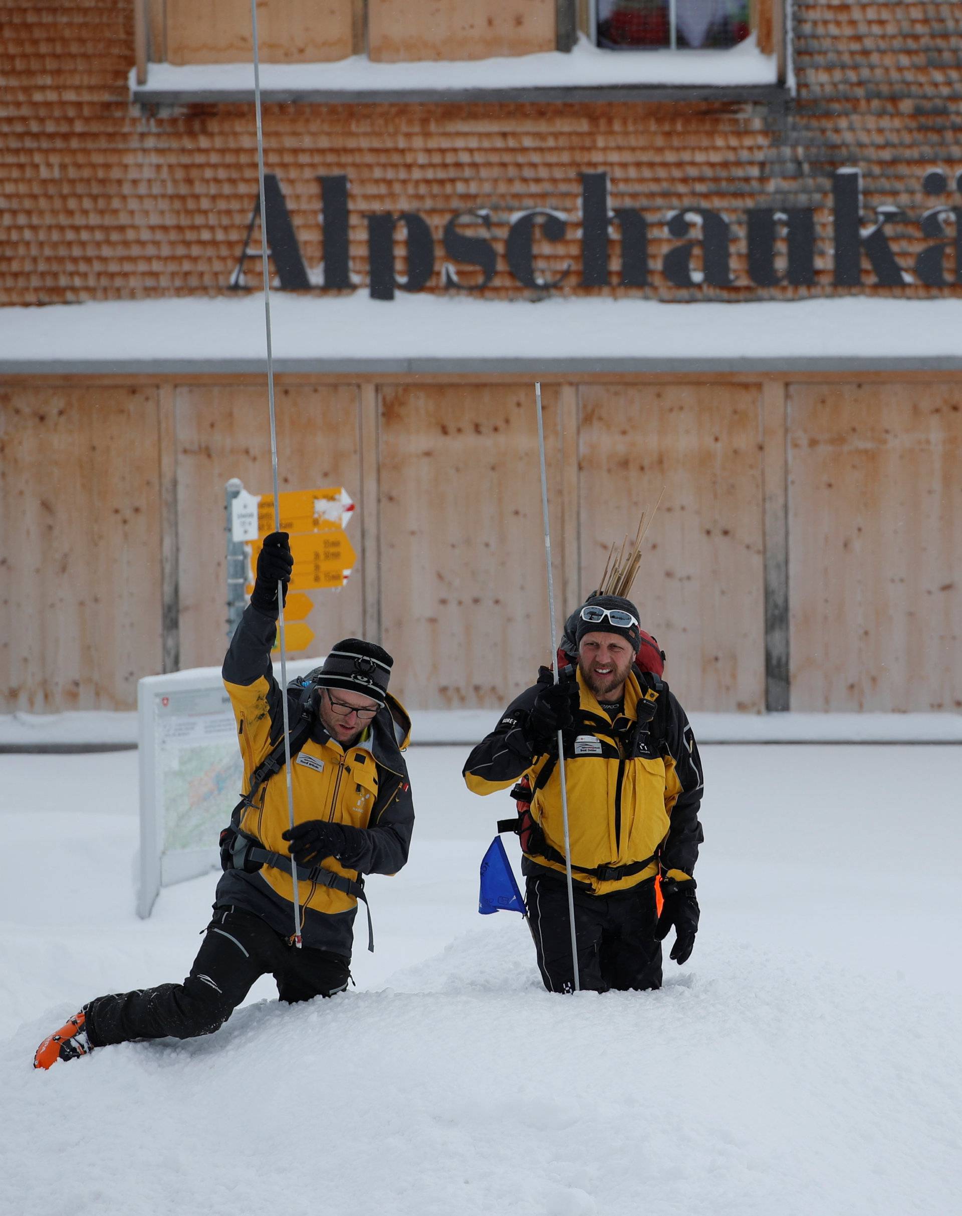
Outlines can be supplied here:
<path id="1" fill-rule="evenodd" d="M 632 669 L 624 711 L 604 713 L 576 669 L 579 713 L 564 736 L 572 877 L 595 895 L 654 878 L 691 878 L 702 826 L 702 766 L 692 728 L 668 685 Z M 564 873 L 564 829 L 557 747 L 533 748 L 527 721 L 539 683 L 505 710 L 496 728 L 468 756 L 465 781 L 493 794 L 527 777 L 533 831 L 525 834 L 525 874 Z"/>

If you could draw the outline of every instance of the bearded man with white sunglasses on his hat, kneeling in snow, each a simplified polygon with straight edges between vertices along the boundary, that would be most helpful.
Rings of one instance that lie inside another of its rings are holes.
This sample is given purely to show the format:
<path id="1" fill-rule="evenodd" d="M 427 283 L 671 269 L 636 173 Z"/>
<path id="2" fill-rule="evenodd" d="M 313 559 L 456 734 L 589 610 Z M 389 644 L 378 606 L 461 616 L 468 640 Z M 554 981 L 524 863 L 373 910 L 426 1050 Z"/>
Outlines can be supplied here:
<path id="1" fill-rule="evenodd" d="M 528 917 L 541 978 L 574 986 L 557 737 L 564 744 L 578 970 L 584 989 L 656 989 L 662 940 L 688 958 L 698 929 L 693 869 L 702 841 L 702 769 L 668 685 L 635 665 L 638 610 L 593 596 L 575 630 L 576 666 L 508 705 L 468 756 L 476 794 L 514 784 Z M 660 882 L 659 917 L 656 879 Z"/>

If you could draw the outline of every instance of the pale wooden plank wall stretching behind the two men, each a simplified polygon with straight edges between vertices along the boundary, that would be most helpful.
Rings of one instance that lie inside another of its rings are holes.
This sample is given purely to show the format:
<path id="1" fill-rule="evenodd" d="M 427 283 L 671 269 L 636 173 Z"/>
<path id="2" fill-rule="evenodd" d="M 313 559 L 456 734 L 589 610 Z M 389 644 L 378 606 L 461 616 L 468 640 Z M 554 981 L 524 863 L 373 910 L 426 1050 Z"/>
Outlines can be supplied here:
<path id="1" fill-rule="evenodd" d="M 962 378 L 545 385 L 558 621 L 662 486 L 635 598 L 688 709 L 962 709 Z M 282 488 L 344 484 L 360 632 L 411 708 L 548 655 L 529 383 L 281 377 Z M 224 484 L 270 492 L 263 384 L 0 388 L 0 711 L 130 709 L 218 665 Z"/>

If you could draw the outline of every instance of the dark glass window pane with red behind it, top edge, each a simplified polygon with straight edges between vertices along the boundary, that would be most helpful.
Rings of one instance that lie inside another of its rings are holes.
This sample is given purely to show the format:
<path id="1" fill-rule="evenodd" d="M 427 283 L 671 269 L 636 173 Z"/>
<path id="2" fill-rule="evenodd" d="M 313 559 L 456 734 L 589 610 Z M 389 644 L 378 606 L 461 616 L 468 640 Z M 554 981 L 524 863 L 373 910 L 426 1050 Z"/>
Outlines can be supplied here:
<path id="1" fill-rule="evenodd" d="M 597 0 L 607 50 L 724 50 L 750 33 L 748 0 Z"/>

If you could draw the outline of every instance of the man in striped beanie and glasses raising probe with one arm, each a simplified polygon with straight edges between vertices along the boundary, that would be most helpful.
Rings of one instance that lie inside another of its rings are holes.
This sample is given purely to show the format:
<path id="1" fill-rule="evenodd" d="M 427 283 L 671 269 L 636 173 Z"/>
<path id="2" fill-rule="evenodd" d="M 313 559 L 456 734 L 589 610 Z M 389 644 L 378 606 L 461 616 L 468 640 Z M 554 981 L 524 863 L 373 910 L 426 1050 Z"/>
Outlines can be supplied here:
<path id="1" fill-rule="evenodd" d="M 414 806 L 401 756 L 410 721 L 388 693 L 393 660 L 345 638 L 324 666 L 287 692 L 294 828 L 288 829 L 285 692 L 270 659 L 277 586 L 291 579 L 286 533 L 272 533 L 224 660 L 224 683 L 243 756 L 243 798 L 221 833 L 214 916 L 182 984 L 97 997 L 40 1045 L 36 1068 L 134 1038 L 191 1038 L 215 1031 L 264 974 L 287 1002 L 348 986 L 362 874 L 393 874 L 407 861 Z M 294 726 L 293 724 L 298 725 Z M 289 851 L 288 851 L 289 850 Z M 303 948 L 294 945 L 291 857 L 298 873 Z M 370 921 L 369 921 L 370 929 Z"/>

